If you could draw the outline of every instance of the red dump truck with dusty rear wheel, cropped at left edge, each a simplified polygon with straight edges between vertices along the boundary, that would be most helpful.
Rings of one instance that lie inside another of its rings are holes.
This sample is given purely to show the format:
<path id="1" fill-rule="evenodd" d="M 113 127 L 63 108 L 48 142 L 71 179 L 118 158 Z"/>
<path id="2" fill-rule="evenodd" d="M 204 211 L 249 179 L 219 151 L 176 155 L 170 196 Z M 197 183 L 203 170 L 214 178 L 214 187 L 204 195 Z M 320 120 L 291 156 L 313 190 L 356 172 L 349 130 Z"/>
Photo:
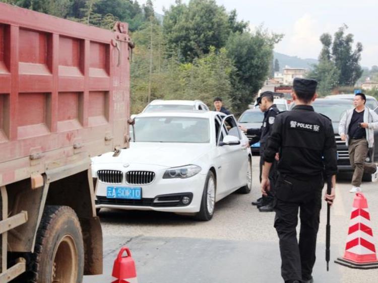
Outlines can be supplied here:
<path id="1" fill-rule="evenodd" d="M 0 3 L 0 283 L 102 273 L 90 157 L 129 145 L 132 48 Z"/>

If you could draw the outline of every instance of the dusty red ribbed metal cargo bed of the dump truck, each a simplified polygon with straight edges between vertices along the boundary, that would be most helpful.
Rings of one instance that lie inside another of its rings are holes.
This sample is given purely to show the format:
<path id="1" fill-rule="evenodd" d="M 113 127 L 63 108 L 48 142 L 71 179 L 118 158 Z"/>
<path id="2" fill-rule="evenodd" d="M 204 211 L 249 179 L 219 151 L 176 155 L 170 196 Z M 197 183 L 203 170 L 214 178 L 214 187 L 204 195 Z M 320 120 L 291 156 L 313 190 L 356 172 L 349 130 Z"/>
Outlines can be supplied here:
<path id="1" fill-rule="evenodd" d="M 90 27 L 0 3 L 0 186 L 128 145 L 128 25 Z"/>

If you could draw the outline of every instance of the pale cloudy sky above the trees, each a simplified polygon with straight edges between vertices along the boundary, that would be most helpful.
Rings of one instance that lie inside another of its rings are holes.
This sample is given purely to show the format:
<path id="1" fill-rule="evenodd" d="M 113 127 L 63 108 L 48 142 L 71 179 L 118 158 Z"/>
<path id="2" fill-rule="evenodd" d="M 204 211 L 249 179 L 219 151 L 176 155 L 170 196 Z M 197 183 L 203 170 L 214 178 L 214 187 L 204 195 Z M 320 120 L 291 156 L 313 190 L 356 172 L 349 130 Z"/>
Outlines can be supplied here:
<path id="1" fill-rule="evenodd" d="M 334 34 L 346 24 L 354 35 L 354 45 L 361 42 L 364 50 L 361 65 L 378 65 L 377 0 L 216 0 L 229 12 L 236 10 L 238 19 L 248 21 L 251 29 L 260 24 L 285 36 L 275 51 L 300 58 L 318 58 L 322 49 L 321 34 Z M 182 0 L 188 3 L 189 0 Z M 139 3 L 145 3 L 140 0 Z M 155 11 L 163 14 L 174 0 L 153 0 Z"/>

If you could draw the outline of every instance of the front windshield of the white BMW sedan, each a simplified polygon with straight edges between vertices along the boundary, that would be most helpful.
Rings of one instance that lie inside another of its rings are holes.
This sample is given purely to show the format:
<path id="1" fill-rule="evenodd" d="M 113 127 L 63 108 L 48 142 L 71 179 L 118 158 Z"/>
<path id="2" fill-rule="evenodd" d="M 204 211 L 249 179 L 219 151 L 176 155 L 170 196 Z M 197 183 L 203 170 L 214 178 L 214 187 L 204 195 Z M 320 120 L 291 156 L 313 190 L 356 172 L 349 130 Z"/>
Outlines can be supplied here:
<path id="1" fill-rule="evenodd" d="M 135 141 L 149 143 L 210 143 L 207 118 L 141 117 L 135 119 Z"/>

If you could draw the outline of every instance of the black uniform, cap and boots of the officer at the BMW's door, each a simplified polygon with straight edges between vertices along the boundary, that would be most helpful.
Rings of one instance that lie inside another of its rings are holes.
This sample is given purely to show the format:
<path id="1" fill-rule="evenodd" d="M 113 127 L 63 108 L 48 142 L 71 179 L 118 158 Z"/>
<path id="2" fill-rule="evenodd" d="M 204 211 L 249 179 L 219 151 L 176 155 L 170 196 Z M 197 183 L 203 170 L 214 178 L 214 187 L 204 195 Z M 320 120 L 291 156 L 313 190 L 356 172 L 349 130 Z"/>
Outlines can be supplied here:
<path id="1" fill-rule="evenodd" d="M 261 99 L 263 97 L 271 96 L 273 99 L 273 93 L 272 92 L 264 92 L 262 95 L 257 99 L 256 103 L 260 104 Z M 273 104 L 267 111 L 264 113 L 264 120 L 263 120 L 263 125 L 261 126 L 260 129 L 247 129 L 247 135 L 257 135 L 260 139 L 260 182 L 261 182 L 261 174 L 262 174 L 262 169 L 264 165 L 264 149 L 265 145 L 267 143 L 267 140 L 272 132 L 273 124 L 276 119 L 277 114 L 280 113 L 280 110 L 278 110 L 276 104 Z M 271 207 L 265 206 L 269 205 L 270 203 L 273 202 L 273 196 L 274 196 L 274 184 L 277 179 L 277 171 L 276 171 L 276 164 L 277 162 L 274 161 L 272 164 L 272 170 L 269 172 L 269 180 L 271 183 L 271 190 L 268 192 L 267 197 L 263 197 L 261 205 L 258 205 L 260 208 L 260 211 L 272 211 Z"/>

